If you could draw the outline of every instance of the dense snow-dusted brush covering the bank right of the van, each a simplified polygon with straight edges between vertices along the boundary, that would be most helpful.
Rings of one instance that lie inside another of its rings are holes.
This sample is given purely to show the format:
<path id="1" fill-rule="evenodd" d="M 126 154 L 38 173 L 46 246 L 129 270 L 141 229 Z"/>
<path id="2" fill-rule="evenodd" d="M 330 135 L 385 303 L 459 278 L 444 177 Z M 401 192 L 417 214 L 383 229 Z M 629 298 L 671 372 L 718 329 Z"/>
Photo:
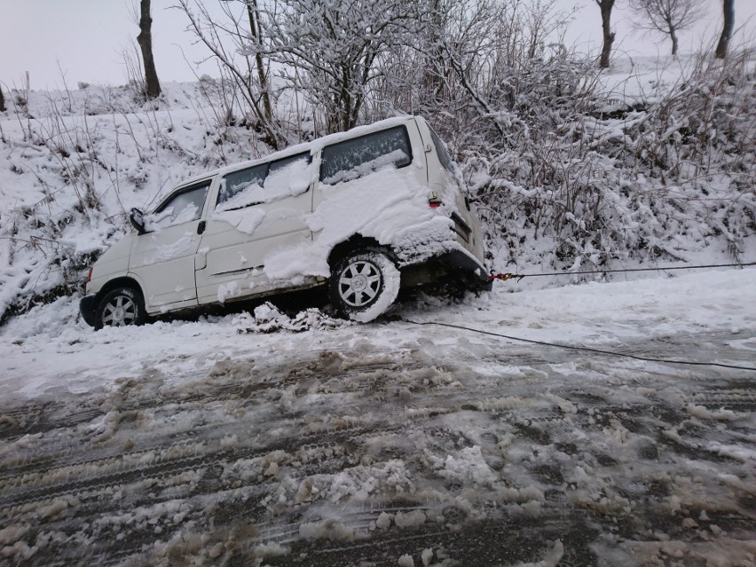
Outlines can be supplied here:
<path id="1" fill-rule="evenodd" d="M 493 240 L 503 237 L 515 262 L 525 240 L 550 239 L 542 258 L 577 268 L 679 259 L 723 235 L 737 260 L 756 232 L 748 69 L 744 58 L 702 59 L 660 99 L 611 117 L 587 108 L 605 97 L 598 89 L 550 112 L 516 113 L 515 147 L 490 140 L 465 159 Z"/>

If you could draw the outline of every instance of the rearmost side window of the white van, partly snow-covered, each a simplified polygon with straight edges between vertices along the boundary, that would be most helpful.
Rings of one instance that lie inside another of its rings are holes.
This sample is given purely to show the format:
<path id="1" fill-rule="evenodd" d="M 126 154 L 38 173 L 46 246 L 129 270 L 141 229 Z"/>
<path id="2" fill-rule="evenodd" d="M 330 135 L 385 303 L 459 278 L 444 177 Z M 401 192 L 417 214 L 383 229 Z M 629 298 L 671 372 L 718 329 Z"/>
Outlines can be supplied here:
<path id="1" fill-rule="evenodd" d="M 386 167 L 404 168 L 411 162 L 412 148 L 406 127 L 396 126 L 324 147 L 320 181 L 335 185 Z"/>

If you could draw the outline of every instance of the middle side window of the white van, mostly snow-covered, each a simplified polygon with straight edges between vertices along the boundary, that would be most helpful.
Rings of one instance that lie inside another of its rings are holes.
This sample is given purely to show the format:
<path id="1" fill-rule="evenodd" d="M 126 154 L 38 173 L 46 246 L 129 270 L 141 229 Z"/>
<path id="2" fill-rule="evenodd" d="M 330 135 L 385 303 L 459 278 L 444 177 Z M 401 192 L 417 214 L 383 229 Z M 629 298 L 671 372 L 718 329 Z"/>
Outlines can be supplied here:
<path id="1" fill-rule="evenodd" d="M 216 210 L 243 209 L 306 192 L 311 181 L 310 162 L 307 152 L 226 174 Z"/>

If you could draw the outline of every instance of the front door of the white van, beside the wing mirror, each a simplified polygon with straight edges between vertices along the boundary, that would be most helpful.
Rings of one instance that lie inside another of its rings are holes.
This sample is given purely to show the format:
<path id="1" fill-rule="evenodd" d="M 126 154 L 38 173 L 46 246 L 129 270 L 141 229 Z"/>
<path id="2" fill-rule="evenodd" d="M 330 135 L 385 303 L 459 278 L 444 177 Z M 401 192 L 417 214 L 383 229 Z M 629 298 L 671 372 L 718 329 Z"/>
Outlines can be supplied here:
<path id="1" fill-rule="evenodd" d="M 144 287 L 149 312 L 197 304 L 194 256 L 211 182 L 182 187 L 145 217 L 147 232 L 131 248 L 129 272 Z"/>

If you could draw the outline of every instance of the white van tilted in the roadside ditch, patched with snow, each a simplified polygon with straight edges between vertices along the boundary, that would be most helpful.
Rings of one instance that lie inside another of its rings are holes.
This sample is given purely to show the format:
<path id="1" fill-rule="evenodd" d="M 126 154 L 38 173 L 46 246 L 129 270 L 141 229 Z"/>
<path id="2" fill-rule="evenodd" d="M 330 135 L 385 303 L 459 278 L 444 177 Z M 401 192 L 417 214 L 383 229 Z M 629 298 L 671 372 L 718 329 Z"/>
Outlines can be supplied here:
<path id="1" fill-rule="evenodd" d="M 95 263 L 81 302 L 91 326 L 326 286 L 368 321 L 400 286 L 490 288 L 476 210 L 443 142 L 392 118 L 194 177 Z"/>

